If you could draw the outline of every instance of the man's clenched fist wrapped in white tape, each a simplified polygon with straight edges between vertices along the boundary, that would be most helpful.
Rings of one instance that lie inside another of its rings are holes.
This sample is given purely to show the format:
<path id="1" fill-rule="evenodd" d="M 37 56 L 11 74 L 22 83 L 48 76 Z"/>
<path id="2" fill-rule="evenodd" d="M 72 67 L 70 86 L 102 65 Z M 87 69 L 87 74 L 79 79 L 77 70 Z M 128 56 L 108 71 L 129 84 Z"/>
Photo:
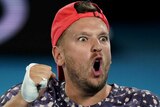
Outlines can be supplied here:
<path id="1" fill-rule="evenodd" d="M 21 86 L 23 99 L 32 102 L 41 96 L 47 87 L 49 78 L 55 78 L 50 66 L 35 63 L 28 65 Z"/>

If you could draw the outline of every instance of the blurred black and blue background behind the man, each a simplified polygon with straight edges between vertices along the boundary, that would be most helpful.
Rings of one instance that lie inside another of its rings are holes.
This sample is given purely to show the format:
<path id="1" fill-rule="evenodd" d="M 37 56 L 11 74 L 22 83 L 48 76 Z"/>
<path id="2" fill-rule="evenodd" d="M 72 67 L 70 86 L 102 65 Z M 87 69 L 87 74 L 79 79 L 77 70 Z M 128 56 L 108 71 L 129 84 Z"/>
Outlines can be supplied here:
<path id="1" fill-rule="evenodd" d="M 0 95 L 21 83 L 26 66 L 56 66 L 50 28 L 57 10 L 74 0 L 0 0 Z M 160 96 L 158 1 L 92 0 L 111 26 L 108 83 L 147 89 Z"/>

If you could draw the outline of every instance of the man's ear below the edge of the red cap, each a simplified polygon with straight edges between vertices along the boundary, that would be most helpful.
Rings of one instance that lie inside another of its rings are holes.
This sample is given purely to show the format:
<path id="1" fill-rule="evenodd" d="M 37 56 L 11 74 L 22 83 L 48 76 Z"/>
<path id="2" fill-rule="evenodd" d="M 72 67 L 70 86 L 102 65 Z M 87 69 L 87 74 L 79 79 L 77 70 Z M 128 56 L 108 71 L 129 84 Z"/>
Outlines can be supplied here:
<path id="1" fill-rule="evenodd" d="M 53 55 L 54 60 L 58 66 L 62 66 L 64 64 L 63 53 L 59 47 L 54 46 L 52 48 L 52 55 Z"/>

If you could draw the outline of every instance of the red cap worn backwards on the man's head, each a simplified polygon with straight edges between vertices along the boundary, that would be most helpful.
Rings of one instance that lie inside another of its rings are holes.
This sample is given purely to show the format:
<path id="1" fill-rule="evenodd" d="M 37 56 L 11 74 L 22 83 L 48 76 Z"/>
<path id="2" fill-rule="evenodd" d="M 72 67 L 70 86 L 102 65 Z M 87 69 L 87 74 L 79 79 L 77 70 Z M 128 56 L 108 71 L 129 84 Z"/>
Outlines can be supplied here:
<path id="1" fill-rule="evenodd" d="M 79 1 L 78 1 L 79 2 Z M 55 15 L 55 18 L 52 23 L 51 28 L 51 41 L 52 46 L 56 46 L 56 43 L 62 33 L 75 21 L 77 21 L 80 18 L 84 17 L 98 17 L 104 21 L 107 28 L 109 29 L 109 23 L 105 15 L 103 14 L 102 10 L 98 7 L 97 4 L 92 3 L 95 7 L 97 7 L 100 12 L 85 12 L 85 13 L 77 13 L 76 9 L 74 8 L 74 5 L 77 2 L 70 3 L 64 7 L 62 7 Z M 64 80 L 64 73 L 62 67 L 58 66 L 58 78 L 60 81 Z"/>

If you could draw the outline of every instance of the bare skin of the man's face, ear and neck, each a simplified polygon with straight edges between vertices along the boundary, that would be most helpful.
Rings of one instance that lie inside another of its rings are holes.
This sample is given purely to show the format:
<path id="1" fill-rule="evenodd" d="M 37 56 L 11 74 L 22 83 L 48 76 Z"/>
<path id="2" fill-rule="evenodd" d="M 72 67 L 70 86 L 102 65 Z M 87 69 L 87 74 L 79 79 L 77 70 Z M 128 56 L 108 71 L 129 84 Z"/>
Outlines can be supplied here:
<path id="1" fill-rule="evenodd" d="M 106 84 L 110 50 L 109 31 L 99 18 L 81 18 L 64 32 L 61 45 L 53 48 L 53 55 L 57 64 L 63 67 L 65 91 L 70 99 L 88 106 L 108 96 L 111 90 Z M 93 68 L 96 58 L 101 58 L 102 62 L 98 76 L 94 75 Z"/>

